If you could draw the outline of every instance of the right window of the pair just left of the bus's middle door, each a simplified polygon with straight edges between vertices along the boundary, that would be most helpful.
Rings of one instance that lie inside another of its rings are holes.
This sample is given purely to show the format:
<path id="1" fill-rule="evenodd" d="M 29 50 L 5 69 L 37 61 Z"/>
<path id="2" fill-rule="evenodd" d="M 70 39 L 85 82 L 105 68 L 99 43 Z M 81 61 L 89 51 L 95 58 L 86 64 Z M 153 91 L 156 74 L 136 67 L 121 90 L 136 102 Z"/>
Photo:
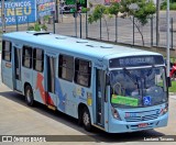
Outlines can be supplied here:
<path id="1" fill-rule="evenodd" d="M 33 51 L 33 69 L 36 71 L 43 71 L 44 67 L 44 51 L 34 48 Z"/>

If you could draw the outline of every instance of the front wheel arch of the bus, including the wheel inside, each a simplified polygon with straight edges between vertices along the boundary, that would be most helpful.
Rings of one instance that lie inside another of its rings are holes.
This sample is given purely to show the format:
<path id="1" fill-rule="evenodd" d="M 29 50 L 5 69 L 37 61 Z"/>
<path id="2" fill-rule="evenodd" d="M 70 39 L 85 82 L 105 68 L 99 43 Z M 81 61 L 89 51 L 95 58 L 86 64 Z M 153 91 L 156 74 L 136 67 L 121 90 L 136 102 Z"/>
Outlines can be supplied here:
<path id="1" fill-rule="evenodd" d="M 90 132 L 92 129 L 90 112 L 87 105 L 84 103 L 78 105 L 78 123 L 82 124 L 85 130 L 88 132 Z"/>

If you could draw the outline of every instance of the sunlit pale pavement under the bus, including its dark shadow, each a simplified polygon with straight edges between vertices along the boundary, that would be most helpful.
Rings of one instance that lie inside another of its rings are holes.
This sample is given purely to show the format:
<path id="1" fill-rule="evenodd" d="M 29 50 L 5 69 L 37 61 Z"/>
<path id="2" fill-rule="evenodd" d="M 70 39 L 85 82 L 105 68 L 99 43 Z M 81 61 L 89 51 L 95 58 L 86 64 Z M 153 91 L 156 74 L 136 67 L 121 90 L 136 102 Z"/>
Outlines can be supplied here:
<path id="1" fill-rule="evenodd" d="M 148 144 L 144 138 L 176 135 L 175 110 L 176 96 L 170 96 L 169 120 L 166 127 L 122 134 L 108 134 L 95 129 L 92 133 L 88 133 L 77 124 L 77 120 L 68 115 L 54 112 L 40 103 L 34 108 L 28 107 L 23 96 L 11 91 L 0 81 L 0 137 L 1 135 L 63 135 L 56 136 L 57 140 L 61 137 L 61 141 L 67 142 L 45 144 Z M 155 143 L 158 144 L 158 142 L 150 142 L 150 144 Z M 44 143 L 36 144 L 42 145 Z M 176 136 L 175 142 L 160 142 L 160 144 L 176 144 Z"/>

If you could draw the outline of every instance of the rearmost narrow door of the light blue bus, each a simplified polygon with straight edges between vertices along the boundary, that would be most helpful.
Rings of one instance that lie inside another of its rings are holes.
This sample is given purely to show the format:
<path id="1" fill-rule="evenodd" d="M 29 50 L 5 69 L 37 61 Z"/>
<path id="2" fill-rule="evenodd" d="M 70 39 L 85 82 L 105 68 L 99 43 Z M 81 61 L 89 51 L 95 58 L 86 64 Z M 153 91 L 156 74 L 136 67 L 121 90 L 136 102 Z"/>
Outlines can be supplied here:
<path id="1" fill-rule="evenodd" d="M 14 90 L 21 91 L 21 48 L 13 46 L 14 49 Z"/>

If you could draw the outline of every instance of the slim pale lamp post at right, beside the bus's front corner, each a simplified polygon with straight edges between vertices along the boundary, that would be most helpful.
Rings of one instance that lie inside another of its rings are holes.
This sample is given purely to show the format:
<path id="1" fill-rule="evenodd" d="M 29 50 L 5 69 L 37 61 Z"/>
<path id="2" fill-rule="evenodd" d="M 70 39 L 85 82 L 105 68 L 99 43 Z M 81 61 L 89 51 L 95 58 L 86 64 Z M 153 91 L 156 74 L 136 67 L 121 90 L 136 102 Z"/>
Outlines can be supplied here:
<path id="1" fill-rule="evenodd" d="M 169 78 L 169 0 L 167 0 L 167 85 L 168 87 L 172 86 L 170 78 Z"/>

